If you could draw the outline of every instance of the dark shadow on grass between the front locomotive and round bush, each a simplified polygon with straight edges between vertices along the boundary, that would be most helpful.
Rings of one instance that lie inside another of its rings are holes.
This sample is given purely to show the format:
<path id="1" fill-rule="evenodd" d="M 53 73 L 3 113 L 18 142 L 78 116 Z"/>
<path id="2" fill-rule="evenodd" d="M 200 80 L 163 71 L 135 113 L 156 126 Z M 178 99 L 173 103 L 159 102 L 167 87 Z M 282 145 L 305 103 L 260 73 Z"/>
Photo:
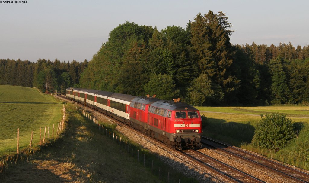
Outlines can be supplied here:
<path id="1" fill-rule="evenodd" d="M 248 122 L 226 122 L 226 120 L 207 118 L 207 125 L 203 129 L 206 137 L 212 137 L 228 144 L 240 146 L 251 143 L 254 135 L 254 126 Z"/>

